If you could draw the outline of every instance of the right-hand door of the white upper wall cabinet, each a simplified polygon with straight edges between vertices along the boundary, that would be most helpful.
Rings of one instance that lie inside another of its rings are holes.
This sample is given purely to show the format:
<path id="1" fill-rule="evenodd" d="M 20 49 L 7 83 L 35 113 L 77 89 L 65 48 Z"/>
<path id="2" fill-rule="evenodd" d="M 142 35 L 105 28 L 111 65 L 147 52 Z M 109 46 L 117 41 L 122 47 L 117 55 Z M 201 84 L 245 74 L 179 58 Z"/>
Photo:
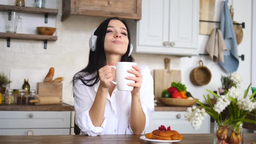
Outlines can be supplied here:
<path id="1" fill-rule="evenodd" d="M 169 26 L 172 47 L 197 49 L 199 0 L 170 0 Z"/>

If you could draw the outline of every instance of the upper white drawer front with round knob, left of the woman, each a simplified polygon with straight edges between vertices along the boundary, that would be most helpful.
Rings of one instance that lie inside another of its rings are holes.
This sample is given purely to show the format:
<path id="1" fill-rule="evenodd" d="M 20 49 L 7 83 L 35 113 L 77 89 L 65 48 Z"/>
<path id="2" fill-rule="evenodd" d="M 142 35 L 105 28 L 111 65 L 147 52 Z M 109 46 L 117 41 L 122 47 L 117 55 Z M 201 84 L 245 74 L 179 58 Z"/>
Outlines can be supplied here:
<path id="1" fill-rule="evenodd" d="M 0 111 L 0 129 L 70 128 L 70 111 Z"/>

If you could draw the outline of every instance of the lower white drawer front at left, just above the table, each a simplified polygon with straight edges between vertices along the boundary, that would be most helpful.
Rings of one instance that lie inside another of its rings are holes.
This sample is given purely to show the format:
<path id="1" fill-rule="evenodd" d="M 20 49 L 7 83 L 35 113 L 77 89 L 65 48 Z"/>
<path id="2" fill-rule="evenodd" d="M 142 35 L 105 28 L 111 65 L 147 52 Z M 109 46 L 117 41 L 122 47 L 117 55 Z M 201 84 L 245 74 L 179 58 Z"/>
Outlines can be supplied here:
<path id="1" fill-rule="evenodd" d="M 69 128 L 63 129 L 0 129 L 0 135 L 69 135 Z"/>

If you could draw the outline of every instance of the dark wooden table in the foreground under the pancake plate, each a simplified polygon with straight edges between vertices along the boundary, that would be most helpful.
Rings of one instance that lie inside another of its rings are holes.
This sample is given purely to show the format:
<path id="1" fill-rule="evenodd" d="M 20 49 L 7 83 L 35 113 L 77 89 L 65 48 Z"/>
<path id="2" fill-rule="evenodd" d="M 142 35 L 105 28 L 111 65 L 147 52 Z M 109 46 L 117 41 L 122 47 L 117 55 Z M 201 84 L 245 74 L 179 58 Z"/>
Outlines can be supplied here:
<path id="1" fill-rule="evenodd" d="M 173 144 L 213 144 L 213 134 L 183 134 L 184 140 Z M 243 144 L 256 142 L 256 134 L 244 134 Z M 148 144 L 140 135 L 60 135 L 0 136 L 0 144 Z"/>

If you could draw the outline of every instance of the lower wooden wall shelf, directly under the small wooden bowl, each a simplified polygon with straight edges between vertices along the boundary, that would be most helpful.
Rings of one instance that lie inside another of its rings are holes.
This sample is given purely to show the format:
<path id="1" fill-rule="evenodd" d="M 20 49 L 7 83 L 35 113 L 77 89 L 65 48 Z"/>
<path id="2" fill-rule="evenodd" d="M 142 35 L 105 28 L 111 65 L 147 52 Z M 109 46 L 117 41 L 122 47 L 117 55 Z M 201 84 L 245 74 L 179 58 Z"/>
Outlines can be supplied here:
<path id="1" fill-rule="evenodd" d="M 47 35 L 33 35 L 33 34 L 21 34 L 21 33 L 0 33 L 2 39 L 26 39 L 26 40 L 39 40 L 39 41 L 53 41 L 58 39 L 58 36 L 47 36 Z"/>

